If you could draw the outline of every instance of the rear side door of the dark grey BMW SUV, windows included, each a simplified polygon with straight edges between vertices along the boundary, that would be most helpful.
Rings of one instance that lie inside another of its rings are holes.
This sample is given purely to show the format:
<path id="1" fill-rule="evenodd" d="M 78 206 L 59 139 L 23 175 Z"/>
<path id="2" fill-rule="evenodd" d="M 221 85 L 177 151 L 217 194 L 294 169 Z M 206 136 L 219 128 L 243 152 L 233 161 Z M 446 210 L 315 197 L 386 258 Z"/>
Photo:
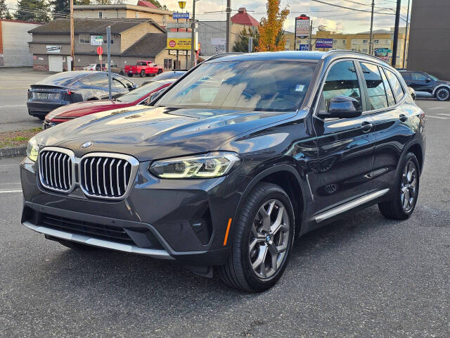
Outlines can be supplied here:
<path id="1" fill-rule="evenodd" d="M 408 90 L 392 70 L 367 63 L 361 68 L 370 72 L 365 73 L 367 77 L 375 79 L 367 85 L 368 100 L 376 108 L 369 112 L 375 123 L 376 142 L 371 178 L 375 189 L 392 188 L 400 156 L 412 137 L 413 105 L 408 101 Z"/>

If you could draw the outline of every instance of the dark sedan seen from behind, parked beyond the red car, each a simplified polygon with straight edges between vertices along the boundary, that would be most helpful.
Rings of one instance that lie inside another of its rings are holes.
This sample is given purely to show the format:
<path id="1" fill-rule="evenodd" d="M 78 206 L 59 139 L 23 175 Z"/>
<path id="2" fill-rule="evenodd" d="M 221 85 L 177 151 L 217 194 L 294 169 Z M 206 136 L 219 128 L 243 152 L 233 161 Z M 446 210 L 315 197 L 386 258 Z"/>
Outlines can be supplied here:
<path id="1" fill-rule="evenodd" d="M 113 74 L 111 91 L 117 97 L 137 86 L 126 77 Z M 46 77 L 28 89 L 28 113 L 44 120 L 53 109 L 74 102 L 108 99 L 108 73 L 88 70 L 64 72 Z"/>

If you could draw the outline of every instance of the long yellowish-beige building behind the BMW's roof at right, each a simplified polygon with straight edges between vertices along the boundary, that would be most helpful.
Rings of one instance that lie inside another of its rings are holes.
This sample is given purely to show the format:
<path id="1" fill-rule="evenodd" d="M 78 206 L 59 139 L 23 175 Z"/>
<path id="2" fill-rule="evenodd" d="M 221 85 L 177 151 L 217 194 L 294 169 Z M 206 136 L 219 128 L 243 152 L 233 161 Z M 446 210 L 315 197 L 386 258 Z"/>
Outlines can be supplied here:
<path id="1" fill-rule="evenodd" d="M 293 33 L 292 33 L 293 34 Z M 374 30 L 373 31 L 373 51 L 377 49 L 389 49 L 392 51 L 394 28 L 390 30 Z M 293 39 L 293 37 L 291 37 Z M 333 48 L 319 48 L 316 49 L 317 39 L 333 39 Z M 331 32 L 326 30 L 319 30 L 312 36 L 312 50 L 328 51 L 331 49 L 347 49 L 349 51 L 361 51 L 368 53 L 369 51 L 370 32 L 361 32 L 356 34 L 342 34 L 338 32 Z M 403 66 L 404 59 L 404 41 L 405 41 L 405 27 L 401 27 L 399 31 L 399 44 L 397 47 L 397 68 Z M 297 49 L 300 44 L 309 45 L 309 39 L 297 39 Z M 287 44 L 286 44 L 286 47 Z M 291 43 L 290 50 L 294 46 Z M 406 51 L 408 51 L 408 41 L 406 42 Z M 375 53 L 374 53 L 375 54 Z M 392 54 L 389 54 L 387 62 L 391 63 Z M 406 65 L 405 65 L 406 67 Z"/>

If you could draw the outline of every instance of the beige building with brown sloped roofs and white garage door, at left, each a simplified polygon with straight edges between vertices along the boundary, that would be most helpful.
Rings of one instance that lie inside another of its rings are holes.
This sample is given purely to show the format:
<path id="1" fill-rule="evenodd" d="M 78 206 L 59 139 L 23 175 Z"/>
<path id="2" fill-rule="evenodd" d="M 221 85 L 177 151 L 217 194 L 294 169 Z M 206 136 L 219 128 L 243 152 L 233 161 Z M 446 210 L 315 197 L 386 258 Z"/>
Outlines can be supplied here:
<path id="1" fill-rule="evenodd" d="M 167 33 L 151 19 L 75 19 L 75 69 L 82 70 L 98 63 L 98 39 L 103 40 L 103 60 L 106 58 L 106 27 L 111 27 L 111 62 L 124 68 L 138 60 L 153 61 L 171 69 L 174 58 L 166 49 Z M 70 22 L 60 18 L 28 31 L 36 70 L 60 72 L 68 69 L 70 56 Z"/>

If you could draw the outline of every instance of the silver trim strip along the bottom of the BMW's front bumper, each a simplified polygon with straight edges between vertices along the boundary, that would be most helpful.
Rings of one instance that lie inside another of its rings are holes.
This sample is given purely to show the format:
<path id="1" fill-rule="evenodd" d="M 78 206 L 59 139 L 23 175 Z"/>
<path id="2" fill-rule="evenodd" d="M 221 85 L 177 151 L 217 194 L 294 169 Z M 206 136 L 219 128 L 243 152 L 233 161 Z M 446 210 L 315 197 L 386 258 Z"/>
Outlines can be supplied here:
<path id="1" fill-rule="evenodd" d="M 150 256 L 153 258 L 160 259 L 174 259 L 165 250 L 160 249 L 143 249 L 139 246 L 121 244 L 115 242 L 104 241 L 103 239 L 96 239 L 93 237 L 84 236 L 83 234 L 71 234 L 70 232 L 64 232 L 60 230 L 50 229 L 49 227 L 41 227 L 33 225 L 32 223 L 25 221 L 23 223 L 25 227 L 34 230 L 35 232 L 40 232 L 41 234 L 49 234 L 50 236 L 57 237 L 60 239 L 67 239 L 68 241 L 78 242 L 82 244 L 99 246 L 101 248 L 113 249 L 117 251 L 124 251 L 130 253 L 140 253 L 141 255 Z"/>

